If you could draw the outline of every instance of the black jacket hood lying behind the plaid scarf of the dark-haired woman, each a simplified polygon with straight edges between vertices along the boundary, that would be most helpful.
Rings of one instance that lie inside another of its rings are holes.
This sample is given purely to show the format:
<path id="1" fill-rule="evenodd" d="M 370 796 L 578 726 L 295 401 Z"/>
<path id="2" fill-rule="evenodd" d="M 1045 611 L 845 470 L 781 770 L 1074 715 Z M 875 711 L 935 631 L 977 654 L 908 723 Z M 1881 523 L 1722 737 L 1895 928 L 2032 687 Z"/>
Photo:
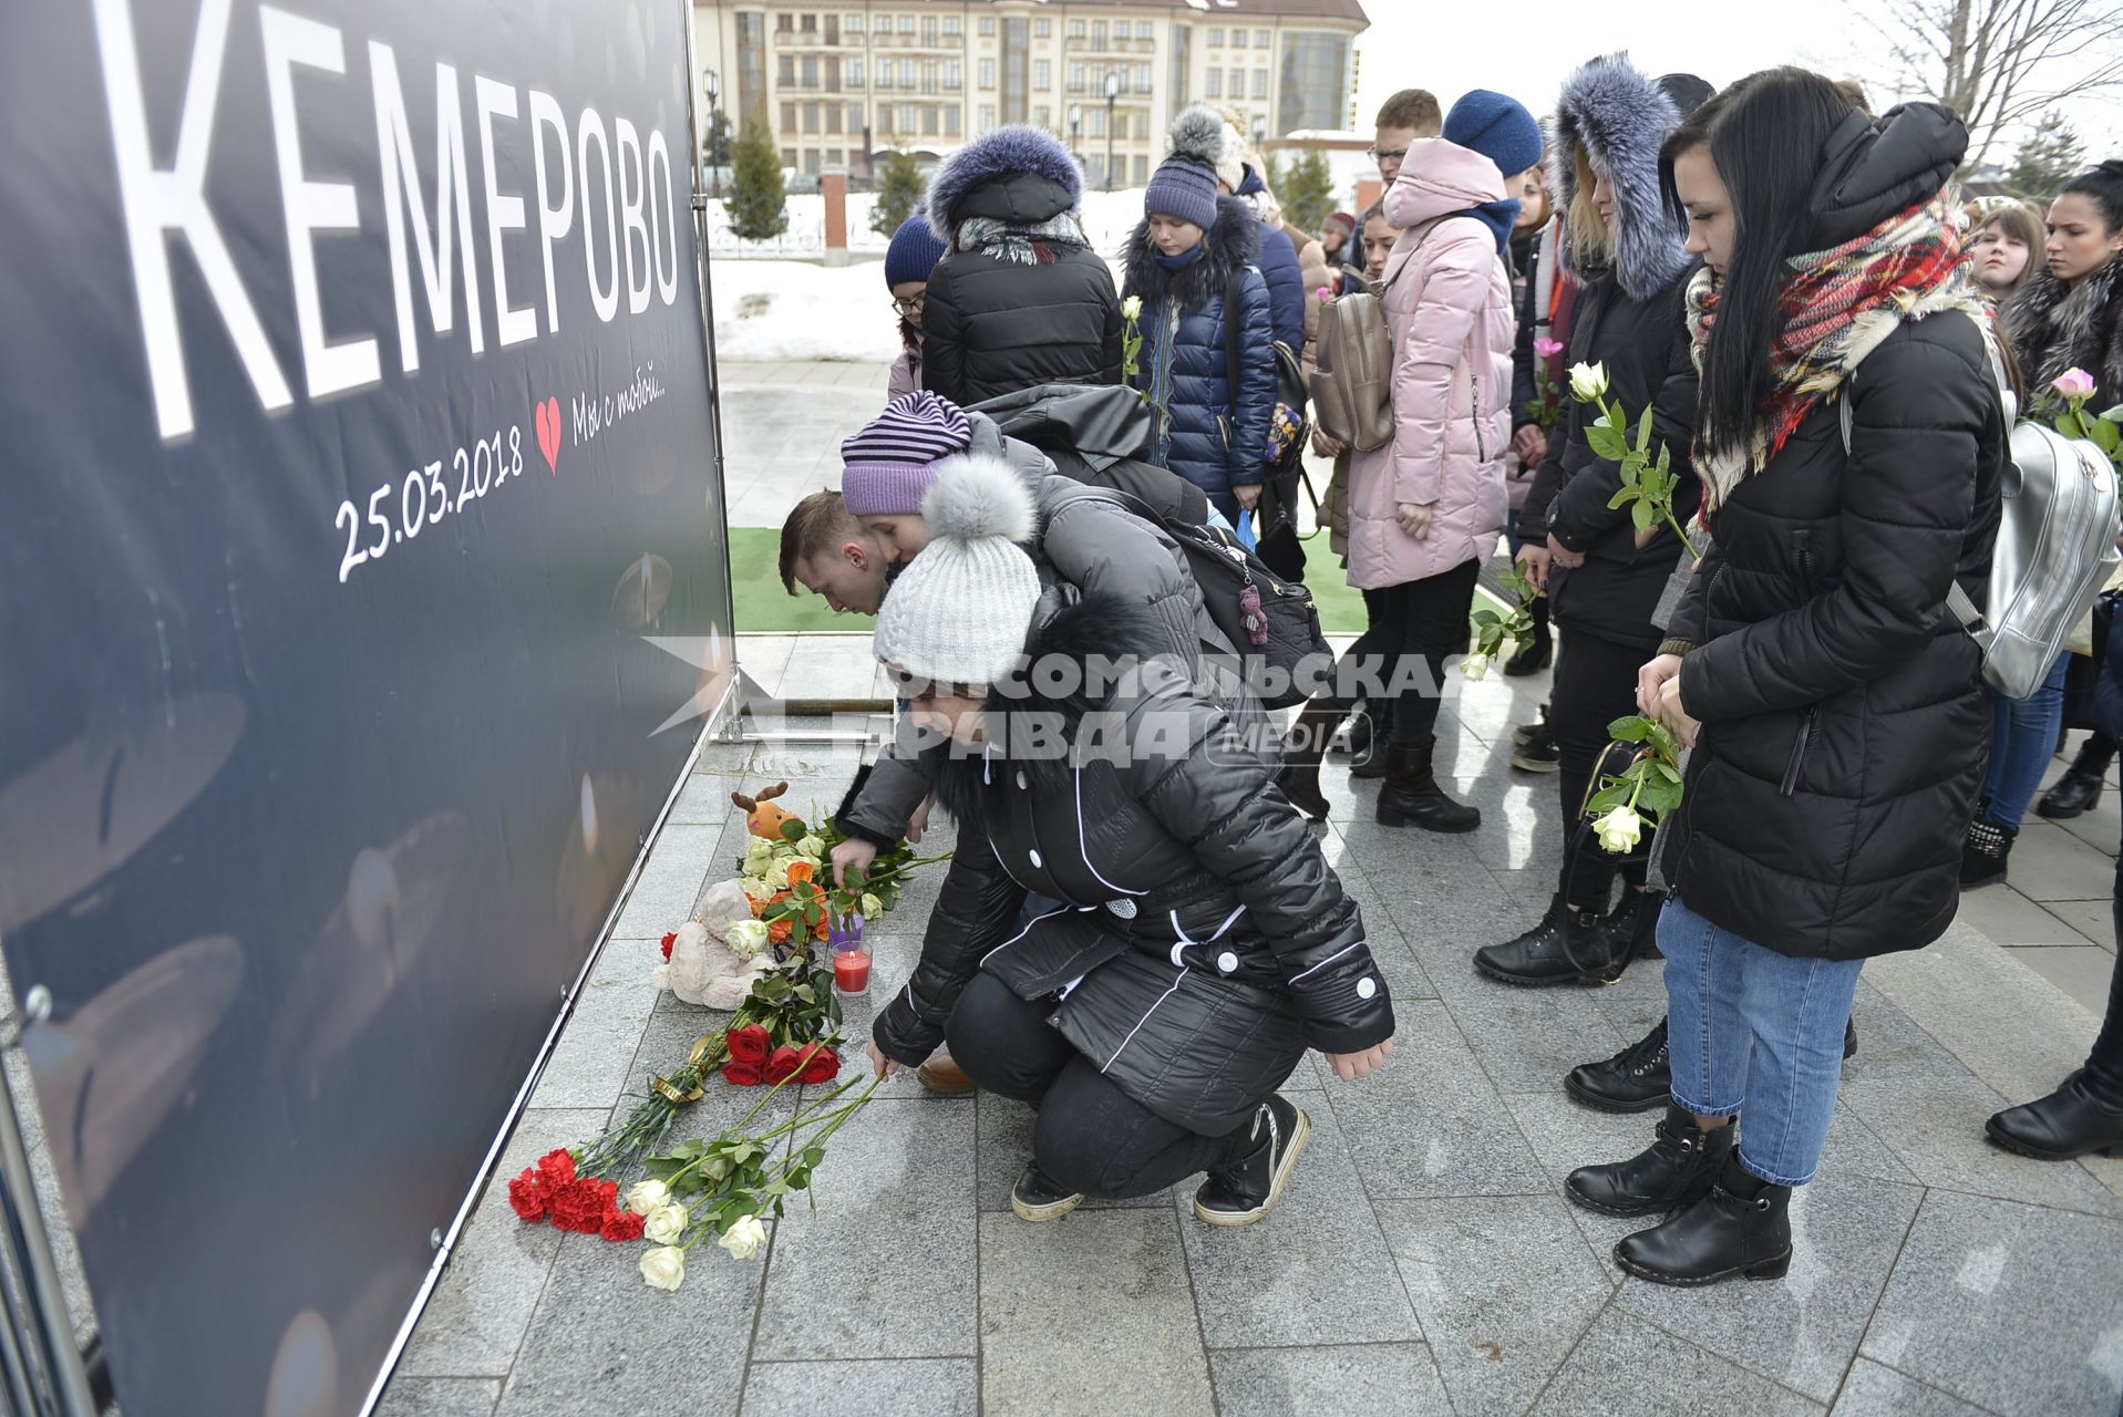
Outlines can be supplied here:
<path id="1" fill-rule="evenodd" d="M 1966 153 L 1968 125 L 1943 104 L 1902 104 L 1879 119 L 1851 112 L 1822 146 L 1807 250 L 1830 250 L 1930 202 Z"/>

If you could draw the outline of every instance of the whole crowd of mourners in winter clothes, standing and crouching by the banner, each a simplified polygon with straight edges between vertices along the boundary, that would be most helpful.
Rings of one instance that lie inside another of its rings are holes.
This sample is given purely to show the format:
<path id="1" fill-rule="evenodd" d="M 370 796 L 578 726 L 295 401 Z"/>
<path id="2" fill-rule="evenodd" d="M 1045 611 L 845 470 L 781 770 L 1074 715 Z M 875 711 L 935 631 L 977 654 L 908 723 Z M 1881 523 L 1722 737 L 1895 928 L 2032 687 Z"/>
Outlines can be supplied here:
<path id="1" fill-rule="evenodd" d="M 2123 732 L 2106 626 L 2008 700 L 1945 607 L 1983 605 L 2015 409 L 2072 369 L 2093 412 L 2123 401 L 2123 161 L 2047 208 L 1964 204 L 1955 112 L 1875 115 L 1813 72 L 1713 89 L 1616 55 L 1539 98 L 1546 123 L 1488 89 L 1448 112 L 1395 93 L 1382 197 L 1316 233 L 1282 221 L 1225 115 L 1189 108 L 1119 282 L 1074 159 L 1030 127 L 951 155 L 892 238 L 892 401 L 841 488 L 790 515 L 781 577 L 875 613 L 904 694 L 834 868 L 919 836 L 932 804 L 957 823 L 873 1063 L 1038 1109 L 1025 1220 L 1199 1175 L 1204 1222 L 1257 1222 L 1310 1135 L 1278 1090 L 1304 1052 L 1344 1082 L 1388 1065 L 1386 976 L 1308 819 L 1333 742 L 1380 779 L 1378 823 L 1480 823 L 1437 719 L 1505 539 L 1539 592 L 1505 672 L 1552 668 L 1512 770 L 1554 774 L 1563 865 L 1469 967 L 1571 986 L 1664 961 L 1667 1018 L 1563 1080 L 1658 1114 L 1641 1154 L 1565 1182 L 1645 1220 L 1616 1249 L 1630 1275 L 1785 1273 L 1864 961 L 1938 940 L 1964 889 L 2004 876 L 2030 804 L 2074 817 L 2102 793 Z M 1310 433 L 1342 562 L 1314 552 L 1310 575 L 1363 594 L 1337 668 L 1397 672 L 1335 672 L 1276 723 L 1231 672 L 1261 638 L 1219 617 L 1195 554 L 1295 501 L 1278 477 L 1308 422 L 1280 367 L 1323 378 L 1321 320 L 1359 295 L 1391 435 Z M 1599 407 L 1558 392 L 1573 367 L 1650 428 L 1671 520 L 1630 513 Z M 1607 851 L 1586 806 L 1633 713 L 1690 749 L 1686 795 Z M 2106 732 L 2036 804 L 2085 725 Z M 2123 967 L 2087 1067 L 1989 1135 L 2123 1154 Z"/>

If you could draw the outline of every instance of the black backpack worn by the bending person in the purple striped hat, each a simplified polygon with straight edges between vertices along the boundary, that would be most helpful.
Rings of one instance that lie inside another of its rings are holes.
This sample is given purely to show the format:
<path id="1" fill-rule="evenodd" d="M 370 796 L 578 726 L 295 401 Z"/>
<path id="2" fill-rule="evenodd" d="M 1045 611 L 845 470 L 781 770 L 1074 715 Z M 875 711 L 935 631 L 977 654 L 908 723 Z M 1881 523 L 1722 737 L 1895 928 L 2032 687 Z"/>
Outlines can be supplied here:
<path id="1" fill-rule="evenodd" d="M 1163 526 L 1166 535 L 1180 545 L 1195 585 L 1202 590 L 1208 617 L 1238 649 L 1246 683 L 1261 704 L 1289 708 L 1306 702 L 1308 683 L 1299 670 L 1308 666 L 1308 660 L 1316 672 L 1327 672 L 1333 666 L 1333 649 L 1321 630 L 1321 613 L 1312 602 L 1312 592 L 1301 581 L 1276 575 L 1221 526 L 1161 515 L 1127 492 L 1108 488 L 1095 488 L 1095 492 L 1151 526 Z"/>

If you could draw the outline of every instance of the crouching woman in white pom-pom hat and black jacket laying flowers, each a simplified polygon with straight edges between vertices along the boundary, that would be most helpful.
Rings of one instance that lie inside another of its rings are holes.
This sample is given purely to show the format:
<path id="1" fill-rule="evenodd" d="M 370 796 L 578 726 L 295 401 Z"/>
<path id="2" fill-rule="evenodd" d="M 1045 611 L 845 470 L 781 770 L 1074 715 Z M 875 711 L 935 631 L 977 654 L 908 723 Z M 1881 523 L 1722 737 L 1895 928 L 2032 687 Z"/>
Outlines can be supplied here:
<path id="1" fill-rule="evenodd" d="M 1155 658 L 1157 622 L 1042 596 L 1030 494 L 966 471 L 936 477 L 930 543 L 877 619 L 877 658 L 951 736 L 957 855 L 870 1061 L 949 1035 L 974 1082 L 1038 1109 L 1025 1220 L 1206 1175 L 1195 1215 L 1253 1224 L 1312 1131 L 1276 1092 L 1306 1050 L 1344 1080 L 1393 1050 L 1363 916 L 1263 755 Z M 1059 904 L 1019 927 L 1028 893 Z"/>

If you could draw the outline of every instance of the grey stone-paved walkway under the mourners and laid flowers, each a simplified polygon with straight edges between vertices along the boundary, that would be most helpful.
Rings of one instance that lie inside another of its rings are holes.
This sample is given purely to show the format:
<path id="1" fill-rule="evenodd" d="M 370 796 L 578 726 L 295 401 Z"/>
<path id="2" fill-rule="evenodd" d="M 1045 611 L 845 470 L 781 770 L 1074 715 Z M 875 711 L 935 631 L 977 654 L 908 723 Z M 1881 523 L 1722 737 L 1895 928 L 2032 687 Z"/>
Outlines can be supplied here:
<path id="1" fill-rule="evenodd" d="M 2106 899 L 2112 806 L 2083 832 L 2047 827 L 2040 853 L 2027 840 L 2021 891 L 1972 897 L 1938 946 L 1866 967 L 1822 1179 L 1792 1211 L 1792 1273 L 1662 1290 L 1609 1260 L 1630 1224 L 1558 1186 L 1650 1133 L 1558 1084 L 1650 1027 L 1656 969 L 1514 991 L 1467 961 L 1529 923 L 1554 874 L 1554 781 L 1505 768 L 1537 692 L 1488 681 L 1448 706 L 1446 751 L 1484 810 L 1471 836 L 1380 829 L 1374 787 L 1329 774 L 1323 844 L 1393 982 L 1399 1048 L 1361 1084 L 1310 1063 L 1293 1078 L 1316 1139 L 1270 1222 L 1216 1232 L 1178 1192 L 1021 1224 L 1006 1192 L 1030 1112 L 900 1078 L 834 1139 L 815 1213 L 783 1220 L 756 1262 L 696 1256 L 677 1294 L 641 1285 L 639 1247 L 527 1228 L 493 1186 L 384 1411 L 2117 1413 L 2123 1162 L 2038 1165 L 1981 1135 L 2091 1039 L 2093 1016 L 2030 965 L 2100 948 L 2089 902 Z M 826 804 L 853 768 L 851 749 L 705 753 L 501 1175 L 594 1133 L 720 1018 L 648 976 L 656 938 L 741 851 L 730 789 L 788 779 L 792 802 Z M 904 978 L 940 882 L 930 872 L 890 919 L 875 997 Z M 2002 942 L 1991 912 L 2019 921 Z M 868 1010 L 847 1022 L 860 1039 Z M 743 1105 L 718 1084 L 681 1135 Z"/>

